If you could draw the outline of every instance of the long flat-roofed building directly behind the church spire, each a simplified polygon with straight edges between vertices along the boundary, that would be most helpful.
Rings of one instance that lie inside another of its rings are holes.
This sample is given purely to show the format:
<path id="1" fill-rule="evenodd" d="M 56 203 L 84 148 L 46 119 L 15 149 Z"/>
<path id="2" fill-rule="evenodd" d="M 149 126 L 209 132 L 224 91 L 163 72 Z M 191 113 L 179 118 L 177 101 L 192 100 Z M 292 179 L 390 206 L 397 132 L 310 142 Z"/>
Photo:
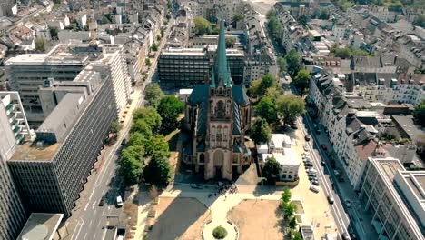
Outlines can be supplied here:
<path id="1" fill-rule="evenodd" d="M 158 61 L 160 84 L 167 89 L 193 87 L 208 78 L 216 49 L 214 45 L 204 48 L 168 48 Z M 232 81 L 243 83 L 244 54 L 238 49 L 227 49 Z"/>

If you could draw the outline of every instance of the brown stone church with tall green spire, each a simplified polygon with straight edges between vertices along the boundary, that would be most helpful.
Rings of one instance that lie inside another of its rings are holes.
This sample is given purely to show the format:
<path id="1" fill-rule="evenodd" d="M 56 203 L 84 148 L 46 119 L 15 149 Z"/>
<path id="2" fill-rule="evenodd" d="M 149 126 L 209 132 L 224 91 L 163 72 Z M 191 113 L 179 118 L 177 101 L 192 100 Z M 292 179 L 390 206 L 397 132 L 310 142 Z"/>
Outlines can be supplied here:
<path id="1" fill-rule="evenodd" d="M 195 85 L 185 106 L 183 162 L 194 165 L 204 179 L 232 180 L 251 164 L 245 133 L 251 126 L 251 104 L 243 85 L 233 85 L 226 56 L 224 20 L 217 53 L 205 83 Z"/>

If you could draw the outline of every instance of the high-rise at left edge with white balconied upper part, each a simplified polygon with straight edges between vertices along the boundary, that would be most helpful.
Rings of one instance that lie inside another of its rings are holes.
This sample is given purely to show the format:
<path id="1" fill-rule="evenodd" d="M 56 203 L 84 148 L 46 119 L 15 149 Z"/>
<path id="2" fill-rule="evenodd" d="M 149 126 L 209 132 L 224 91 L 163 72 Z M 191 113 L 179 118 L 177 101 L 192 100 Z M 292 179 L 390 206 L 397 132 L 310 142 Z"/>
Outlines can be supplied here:
<path id="1" fill-rule="evenodd" d="M 0 239 L 16 239 L 26 215 L 6 160 L 15 145 L 29 133 L 29 127 L 16 92 L 0 92 Z M 25 133 L 25 131 L 28 131 Z"/>

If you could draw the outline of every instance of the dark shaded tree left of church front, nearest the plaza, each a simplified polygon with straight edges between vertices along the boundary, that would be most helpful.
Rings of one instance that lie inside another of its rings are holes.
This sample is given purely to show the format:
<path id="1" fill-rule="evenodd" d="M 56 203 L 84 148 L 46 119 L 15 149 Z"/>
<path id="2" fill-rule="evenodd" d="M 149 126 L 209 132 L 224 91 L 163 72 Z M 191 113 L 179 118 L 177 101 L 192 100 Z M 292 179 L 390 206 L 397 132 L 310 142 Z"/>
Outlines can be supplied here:
<path id="1" fill-rule="evenodd" d="M 170 162 L 163 156 L 153 156 L 143 170 L 144 182 L 159 187 L 167 186 L 170 182 Z"/>

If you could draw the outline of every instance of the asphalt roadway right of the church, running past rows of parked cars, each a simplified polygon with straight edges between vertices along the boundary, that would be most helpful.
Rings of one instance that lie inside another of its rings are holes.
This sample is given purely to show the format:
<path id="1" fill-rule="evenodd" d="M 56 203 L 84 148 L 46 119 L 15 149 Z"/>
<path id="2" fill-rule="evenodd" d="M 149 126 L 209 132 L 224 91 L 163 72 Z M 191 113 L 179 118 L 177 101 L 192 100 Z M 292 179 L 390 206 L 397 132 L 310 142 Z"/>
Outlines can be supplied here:
<path id="1" fill-rule="evenodd" d="M 297 119 L 298 124 L 301 126 L 301 132 L 303 135 L 308 134 L 305 125 L 302 123 L 301 121 L 301 117 Z M 309 126 L 310 129 L 313 129 L 311 127 L 311 123 L 307 121 L 307 125 Z M 348 232 L 347 231 L 347 227 L 350 225 L 350 219 L 349 217 L 346 215 L 345 210 L 342 206 L 341 200 L 339 195 L 337 195 L 337 193 L 332 189 L 331 186 L 331 179 L 329 177 L 329 175 L 325 175 L 324 173 L 324 168 L 327 168 L 326 170 L 328 171 L 328 173 L 331 171 L 329 165 L 325 165 L 324 167 L 321 166 L 321 155 L 319 155 L 317 153 L 317 151 L 314 149 L 313 145 L 314 145 L 314 135 L 313 138 L 307 142 L 308 148 L 309 148 L 309 152 L 311 153 L 311 159 L 314 163 L 314 167 L 316 168 L 316 170 L 318 171 L 318 178 L 319 178 L 319 182 L 321 185 L 321 189 L 325 192 L 326 195 L 331 195 L 334 199 L 334 203 L 333 205 L 331 205 L 331 213 L 336 221 L 336 225 L 338 228 L 338 232 L 340 233 L 340 235 L 342 233 Z"/>

